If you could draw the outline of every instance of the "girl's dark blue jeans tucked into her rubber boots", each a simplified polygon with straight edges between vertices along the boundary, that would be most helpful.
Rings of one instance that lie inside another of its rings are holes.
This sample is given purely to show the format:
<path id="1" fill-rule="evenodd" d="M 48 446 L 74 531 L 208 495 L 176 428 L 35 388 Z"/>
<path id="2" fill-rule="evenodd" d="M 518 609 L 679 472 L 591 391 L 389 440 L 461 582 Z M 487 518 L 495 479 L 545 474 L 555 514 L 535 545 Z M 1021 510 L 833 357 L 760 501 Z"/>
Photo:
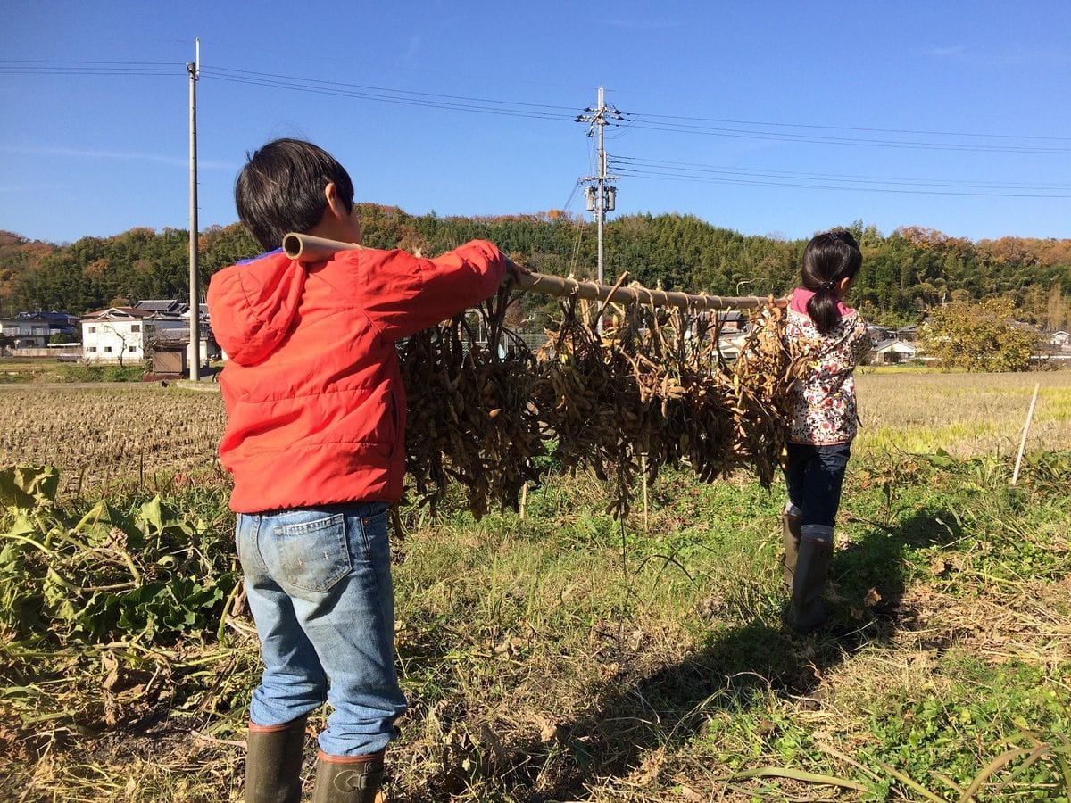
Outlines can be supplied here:
<path id="1" fill-rule="evenodd" d="M 851 444 L 788 443 L 787 450 L 785 513 L 800 517 L 800 537 L 804 541 L 832 544 Z"/>

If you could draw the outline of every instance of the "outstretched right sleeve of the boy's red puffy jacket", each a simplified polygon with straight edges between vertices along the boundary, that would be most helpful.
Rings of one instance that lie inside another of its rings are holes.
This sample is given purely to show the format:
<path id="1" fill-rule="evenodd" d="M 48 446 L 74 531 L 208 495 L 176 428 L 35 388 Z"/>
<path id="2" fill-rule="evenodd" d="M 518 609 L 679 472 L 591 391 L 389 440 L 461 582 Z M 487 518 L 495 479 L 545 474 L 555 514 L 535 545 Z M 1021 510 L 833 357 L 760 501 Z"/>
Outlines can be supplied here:
<path id="1" fill-rule="evenodd" d="M 496 245 L 472 240 L 435 259 L 404 251 L 380 252 L 361 271 L 358 301 L 392 340 L 433 327 L 493 296 L 506 273 Z"/>

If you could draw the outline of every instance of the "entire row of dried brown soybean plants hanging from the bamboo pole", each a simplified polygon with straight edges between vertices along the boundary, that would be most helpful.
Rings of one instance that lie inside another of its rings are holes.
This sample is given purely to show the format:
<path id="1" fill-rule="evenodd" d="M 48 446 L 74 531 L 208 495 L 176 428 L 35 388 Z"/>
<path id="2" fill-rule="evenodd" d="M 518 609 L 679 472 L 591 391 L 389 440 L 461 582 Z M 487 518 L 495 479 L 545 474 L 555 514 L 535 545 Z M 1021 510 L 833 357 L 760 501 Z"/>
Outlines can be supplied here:
<path id="1" fill-rule="evenodd" d="M 610 484 L 615 516 L 628 515 L 640 472 L 653 482 L 663 467 L 703 482 L 751 469 L 772 482 L 800 364 L 772 299 L 753 314 L 733 362 L 712 310 L 570 297 L 533 354 L 503 325 L 510 303 L 500 291 L 403 347 L 407 468 L 433 510 L 451 480 L 477 517 L 496 504 L 516 509 L 524 484 L 539 481 L 532 458 L 548 444 L 565 470 L 590 469 Z"/>

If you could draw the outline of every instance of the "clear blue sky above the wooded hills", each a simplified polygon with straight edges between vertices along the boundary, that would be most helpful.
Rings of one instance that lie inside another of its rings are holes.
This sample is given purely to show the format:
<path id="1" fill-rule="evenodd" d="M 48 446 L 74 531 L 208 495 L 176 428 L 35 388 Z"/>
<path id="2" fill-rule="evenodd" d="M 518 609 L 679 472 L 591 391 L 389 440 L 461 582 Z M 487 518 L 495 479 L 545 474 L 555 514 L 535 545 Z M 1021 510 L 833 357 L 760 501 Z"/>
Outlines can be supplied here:
<path id="1" fill-rule="evenodd" d="M 1071 237 L 1066 0 L 9 3 L 0 229 L 186 228 L 196 37 L 201 228 L 237 219 L 245 151 L 281 136 L 332 151 L 360 200 L 583 213 L 573 117 L 603 85 L 627 117 L 612 217 Z"/>

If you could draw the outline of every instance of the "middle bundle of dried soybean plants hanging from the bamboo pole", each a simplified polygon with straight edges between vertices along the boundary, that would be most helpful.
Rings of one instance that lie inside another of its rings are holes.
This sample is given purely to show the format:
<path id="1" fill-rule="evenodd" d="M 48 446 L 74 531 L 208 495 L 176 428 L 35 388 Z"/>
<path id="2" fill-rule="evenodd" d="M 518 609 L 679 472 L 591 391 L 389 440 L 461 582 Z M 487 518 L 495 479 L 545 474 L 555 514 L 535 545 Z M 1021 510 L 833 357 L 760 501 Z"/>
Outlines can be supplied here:
<path id="1" fill-rule="evenodd" d="M 620 285 L 622 281 L 618 282 Z M 571 471 L 613 478 L 615 515 L 629 512 L 635 479 L 690 466 L 705 481 L 731 471 L 731 394 L 721 376 L 718 318 L 691 309 L 613 306 L 569 299 L 540 351 L 533 400 Z"/>

